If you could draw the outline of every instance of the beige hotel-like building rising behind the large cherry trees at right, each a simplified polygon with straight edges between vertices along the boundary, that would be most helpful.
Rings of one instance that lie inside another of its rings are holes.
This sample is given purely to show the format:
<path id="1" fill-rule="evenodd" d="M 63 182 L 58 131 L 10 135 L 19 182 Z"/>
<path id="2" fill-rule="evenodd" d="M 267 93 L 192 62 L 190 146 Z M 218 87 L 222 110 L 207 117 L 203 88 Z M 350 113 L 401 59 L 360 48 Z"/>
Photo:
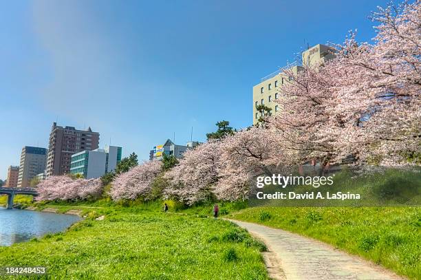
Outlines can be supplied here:
<path id="1" fill-rule="evenodd" d="M 301 55 L 303 65 L 311 67 L 334 58 L 334 48 L 318 44 L 305 50 Z M 292 77 L 285 74 L 286 69 L 292 69 L 292 72 L 297 74 L 303 67 L 301 65 L 296 65 L 296 63 L 289 65 L 288 67 L 283 67 L 278 71 L 261 78 L 261 82 L 253 87 L 253 125 L 256 125 L 259 118 L 263 116 L 263 111 L 258 111 L 256 109 L 258 105 L 265 105 L 272 109 L 272 111 L 270 111 L 271 114 L 277 114 L 281 109 L 275 100 L 282 95 L 282 85 L 285 85 L 285 83 L 288 83 L 288 81 L 292 79 Z M 267 112 L 264 112 L 264 114 L 267 114 Z"/>

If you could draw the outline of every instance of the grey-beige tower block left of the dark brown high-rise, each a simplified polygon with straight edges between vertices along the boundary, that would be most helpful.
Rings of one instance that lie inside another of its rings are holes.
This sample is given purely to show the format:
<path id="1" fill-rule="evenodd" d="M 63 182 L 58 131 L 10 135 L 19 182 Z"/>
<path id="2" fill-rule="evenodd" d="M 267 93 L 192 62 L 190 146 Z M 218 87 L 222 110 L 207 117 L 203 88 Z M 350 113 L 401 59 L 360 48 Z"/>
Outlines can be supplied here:
<path id="1" fill-rule="evenodd" d="M 39 147 L 22 148 L 21 165 L 19 166 L 18 188 L 27 188 L 33 177 L 43 172 L 47 149 Z"/>

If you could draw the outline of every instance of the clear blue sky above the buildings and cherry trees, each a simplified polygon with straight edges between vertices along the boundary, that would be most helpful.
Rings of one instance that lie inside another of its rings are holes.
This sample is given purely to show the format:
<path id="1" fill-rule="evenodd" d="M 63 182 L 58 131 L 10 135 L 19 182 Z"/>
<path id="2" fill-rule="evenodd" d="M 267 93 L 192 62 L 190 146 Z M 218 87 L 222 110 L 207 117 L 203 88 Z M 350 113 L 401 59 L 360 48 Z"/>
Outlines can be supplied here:
<path id="1" fill-rule="evenodd" d="M 304 42 L 374 37 L 386 1 L 2 1 L 0 178 L 52 122 L 147 160 L 167 138 L 252 124 L 252 86 Z"/>

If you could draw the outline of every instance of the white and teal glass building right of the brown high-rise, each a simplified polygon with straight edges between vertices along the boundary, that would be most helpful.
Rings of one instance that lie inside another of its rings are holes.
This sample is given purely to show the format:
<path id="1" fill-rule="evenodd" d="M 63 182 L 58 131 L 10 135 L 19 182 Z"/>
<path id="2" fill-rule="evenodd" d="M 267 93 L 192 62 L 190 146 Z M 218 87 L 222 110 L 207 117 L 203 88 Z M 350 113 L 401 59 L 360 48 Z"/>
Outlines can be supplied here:
<path id="1" fill-rule="evenodd" d="M 121 147 L 109 146 L 94 151 L 81 151 L 72 155 L 70 173 L 83 175 L 86 179 L 98 178 L 114 171 L 121 161 Z"/>

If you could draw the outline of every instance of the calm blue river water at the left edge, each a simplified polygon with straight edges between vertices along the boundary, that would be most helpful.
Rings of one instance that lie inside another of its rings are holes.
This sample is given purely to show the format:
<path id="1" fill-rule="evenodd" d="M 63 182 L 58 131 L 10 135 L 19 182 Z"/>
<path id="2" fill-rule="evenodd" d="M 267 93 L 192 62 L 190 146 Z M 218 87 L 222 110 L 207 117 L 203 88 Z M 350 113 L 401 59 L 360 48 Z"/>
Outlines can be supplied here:
<path id="1" fill-rule="evenodd" d="M 0 246 L 63 231 L 78 220 L 80 217 L 76 215 L 0 207 Z"/>

